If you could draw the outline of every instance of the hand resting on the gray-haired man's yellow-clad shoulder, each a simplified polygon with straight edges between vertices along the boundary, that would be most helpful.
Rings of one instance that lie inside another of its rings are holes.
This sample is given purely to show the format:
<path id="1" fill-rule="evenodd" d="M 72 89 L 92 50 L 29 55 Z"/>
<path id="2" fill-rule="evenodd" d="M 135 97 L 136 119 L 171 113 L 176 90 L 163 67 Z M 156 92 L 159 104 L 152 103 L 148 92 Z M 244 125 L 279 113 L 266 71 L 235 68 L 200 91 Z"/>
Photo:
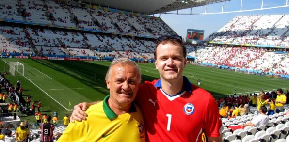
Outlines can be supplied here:
<path id="1" fill-rule="evenodd" d="M 70 116 L 70 122 L 74 123 L 74 120 L 81 122 L 82 120 L 86 120 L 87 114 L 84 112 L 88 108 L 88 104 L 86 102 L 79 103 L 75 105 L 73 108 L 73 112 Z"/>

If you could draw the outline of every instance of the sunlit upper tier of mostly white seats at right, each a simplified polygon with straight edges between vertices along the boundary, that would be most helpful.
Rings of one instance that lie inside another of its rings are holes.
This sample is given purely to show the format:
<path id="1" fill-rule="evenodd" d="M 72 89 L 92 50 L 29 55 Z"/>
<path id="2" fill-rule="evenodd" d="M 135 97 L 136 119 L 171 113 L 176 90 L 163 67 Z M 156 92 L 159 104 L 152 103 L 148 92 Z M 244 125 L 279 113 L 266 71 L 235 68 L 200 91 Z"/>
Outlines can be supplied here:
<path id="1" fill-rule="evenodd" d="M 209 36 L 214 42 L 287 46 L 288 15 L 236 16 Z"/>

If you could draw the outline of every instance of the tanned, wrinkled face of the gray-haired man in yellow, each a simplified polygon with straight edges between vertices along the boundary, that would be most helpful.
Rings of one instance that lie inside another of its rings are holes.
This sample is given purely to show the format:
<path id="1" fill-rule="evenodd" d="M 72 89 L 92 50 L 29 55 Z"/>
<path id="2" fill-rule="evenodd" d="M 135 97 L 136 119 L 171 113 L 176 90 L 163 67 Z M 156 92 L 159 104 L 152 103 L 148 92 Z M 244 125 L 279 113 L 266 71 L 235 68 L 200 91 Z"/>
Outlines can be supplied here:
<path id="1" fill-rule="evenodd" d="M 138 91 L 140 78 L 135 66 L 123 64 L 112 66 L 112 74 L 106 80 L 111 102 L 118 106 L 129 105 Z"/>

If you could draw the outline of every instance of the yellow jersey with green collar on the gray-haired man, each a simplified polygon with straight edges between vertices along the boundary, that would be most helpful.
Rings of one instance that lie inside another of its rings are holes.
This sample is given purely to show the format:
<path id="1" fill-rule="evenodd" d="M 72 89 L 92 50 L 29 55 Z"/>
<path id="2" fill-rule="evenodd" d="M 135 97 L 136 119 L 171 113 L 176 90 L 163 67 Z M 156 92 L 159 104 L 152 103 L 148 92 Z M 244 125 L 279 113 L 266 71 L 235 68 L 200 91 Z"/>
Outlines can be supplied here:
<path id="1" fill-rule="evenodd" d="M 57 142 L 145 142 L 140 108 L 132 103 L 130 113 L 116 115 L 107 104 L 109 97 L 86 110 L 86 121 L 69 123 Z"/>

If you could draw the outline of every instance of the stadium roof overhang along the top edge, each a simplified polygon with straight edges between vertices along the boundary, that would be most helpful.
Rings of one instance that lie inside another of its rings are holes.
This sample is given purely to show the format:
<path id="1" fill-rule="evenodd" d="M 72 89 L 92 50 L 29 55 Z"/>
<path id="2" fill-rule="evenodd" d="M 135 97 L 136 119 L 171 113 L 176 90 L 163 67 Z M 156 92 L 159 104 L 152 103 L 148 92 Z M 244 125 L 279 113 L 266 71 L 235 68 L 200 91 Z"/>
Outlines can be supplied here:
<path id="1" fill-rule="evenodd" d="M 82 0 L 86 3 L 142 14 L 158 14 L 230 0 Z"/>

